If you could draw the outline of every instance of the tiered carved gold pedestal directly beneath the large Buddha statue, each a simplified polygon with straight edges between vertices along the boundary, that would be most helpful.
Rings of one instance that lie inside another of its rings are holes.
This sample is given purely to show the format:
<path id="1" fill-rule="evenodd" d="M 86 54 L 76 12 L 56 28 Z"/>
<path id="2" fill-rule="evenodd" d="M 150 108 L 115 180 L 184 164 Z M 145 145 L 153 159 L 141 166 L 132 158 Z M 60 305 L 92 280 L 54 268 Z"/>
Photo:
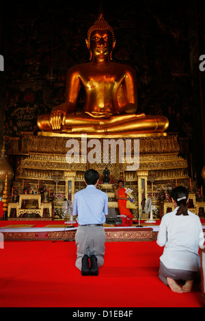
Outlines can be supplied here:
<path id="1" fill-rule="evenodd" d="M 20 178 L 39 178 L 49 180 L 53 176 L 53 171 L 59 171 L 57 175 L 61 176 L 61 171 L 85 171 L 90 164 L 81 163 L 81 139 L 76 138 L 79 143 L 80 159 L 79 163 L 66 162 L 66 141 L 69 137 L 30 137 L 29 157 L 25 158 L 20 164 Z M 91 138 L 90 138 L 91 139 Z M 87 142 L 90 141 L 87 139 Z M 124 138 L 122 138 L 125 141 Z M 99 139 L 103 145 L 103 139 Z M 133 144 L 132 144 L 133 145 Z M 156 180 L 169 179 L 176 177 L 186 177 L 187 161 L 178 156 L 179 146 L 176 135 L 161 135 L 153 137 L 139 137 L 139 170 L 158 171 Z M 117 150 L 118 153 L 118 150 Z M 103 163 L 103 150 L 100 163 L 92 164 L 92 167 L 101 171 L 105 169 Z M 133 154 L 132 154 L 133 156 Z M 111 175 L 118 175 L 120 171 L 126 171 L 126 162 L 108 164 Z M 125 173 L 131 176 L 131 173 Z M 132 180 L 136 176 L 132 173 Z M 127 178 L 126 178 L 127 180 Z"/>

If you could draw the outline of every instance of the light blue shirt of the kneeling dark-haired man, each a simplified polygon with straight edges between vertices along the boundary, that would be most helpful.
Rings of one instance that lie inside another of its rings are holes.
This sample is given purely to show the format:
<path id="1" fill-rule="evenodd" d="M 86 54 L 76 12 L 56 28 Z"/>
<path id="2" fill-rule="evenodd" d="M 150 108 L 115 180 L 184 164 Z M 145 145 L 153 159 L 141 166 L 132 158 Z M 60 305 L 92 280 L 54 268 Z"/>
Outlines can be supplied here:
<path id="1" fill-rule="evenodd" d="M 79 225 L 105 223 L 107 214 L 108 196 L 96 189 L 96 186 L 87 185 L 85 189 L 74 194 L 73 215 L 78 215 Z"/>

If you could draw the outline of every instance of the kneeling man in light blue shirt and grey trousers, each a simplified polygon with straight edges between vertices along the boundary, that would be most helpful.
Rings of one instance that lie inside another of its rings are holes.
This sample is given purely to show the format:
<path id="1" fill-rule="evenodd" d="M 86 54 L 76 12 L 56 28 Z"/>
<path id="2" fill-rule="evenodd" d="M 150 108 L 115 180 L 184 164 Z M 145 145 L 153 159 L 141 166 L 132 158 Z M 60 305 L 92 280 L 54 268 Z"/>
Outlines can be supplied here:
<path id="1" fill-rule="evenodd" d="M 78 215 L 79 227 L 75 236 L 77 245 L 76 266 L 81 275 L 98 275 L 104 264 L 105 216 L 108 214 L 108 196 L 96 189 L 98 171 L 89 169 L 84 176 L 85 189 L 74 194 L 73 215 Z"/>

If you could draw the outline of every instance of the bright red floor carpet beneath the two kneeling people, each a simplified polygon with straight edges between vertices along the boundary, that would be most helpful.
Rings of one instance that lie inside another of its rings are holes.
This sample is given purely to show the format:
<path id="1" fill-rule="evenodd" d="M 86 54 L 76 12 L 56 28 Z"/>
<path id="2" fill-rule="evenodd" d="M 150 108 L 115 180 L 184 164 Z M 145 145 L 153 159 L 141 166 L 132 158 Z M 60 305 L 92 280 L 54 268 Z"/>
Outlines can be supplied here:
<path id="1" fill-rule="evenodd" d="M 202 307 L 199 283 L 176 294 L 158 278 L 154 242 L 107 242 L 98 277 L 74 266 L 74 242 L 12 242 L 0 249 L 0 307 Z"/>

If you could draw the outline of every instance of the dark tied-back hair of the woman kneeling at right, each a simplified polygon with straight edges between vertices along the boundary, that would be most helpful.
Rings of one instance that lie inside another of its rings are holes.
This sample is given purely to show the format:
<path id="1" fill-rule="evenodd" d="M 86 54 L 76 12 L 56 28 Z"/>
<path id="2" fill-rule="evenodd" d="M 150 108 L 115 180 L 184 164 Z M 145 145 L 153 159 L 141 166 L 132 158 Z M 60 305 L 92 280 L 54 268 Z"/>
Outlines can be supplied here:
<path id="1" fill-rule="evenodd" d="M 189 215 L 187 211 L 187 200 L 189 192 L 185 189 L 184 186 L 177 186 L 172 190 L 172 198 L 176 201 L 176 204 L 179 206 L 176 215 Z"/>

